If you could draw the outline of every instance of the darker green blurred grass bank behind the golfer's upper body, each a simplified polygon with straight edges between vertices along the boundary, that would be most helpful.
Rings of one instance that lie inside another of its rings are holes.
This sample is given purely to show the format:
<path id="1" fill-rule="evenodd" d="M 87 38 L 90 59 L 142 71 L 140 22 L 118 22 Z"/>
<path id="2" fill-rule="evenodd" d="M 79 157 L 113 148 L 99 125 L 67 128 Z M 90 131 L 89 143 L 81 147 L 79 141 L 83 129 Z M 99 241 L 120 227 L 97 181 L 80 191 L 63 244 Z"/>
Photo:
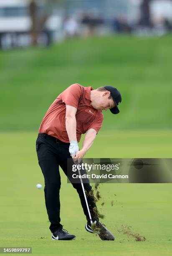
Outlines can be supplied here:
<path id="1" fill-rule="evenodd" d="M 171 44 L 172 36 L 106 37 L 0 52 L 0 130 L 37 129 L 56 96 L 76 82 L 121 91 L 121 114 L 106 113 L 105 129 L 171 128 Z"/>

